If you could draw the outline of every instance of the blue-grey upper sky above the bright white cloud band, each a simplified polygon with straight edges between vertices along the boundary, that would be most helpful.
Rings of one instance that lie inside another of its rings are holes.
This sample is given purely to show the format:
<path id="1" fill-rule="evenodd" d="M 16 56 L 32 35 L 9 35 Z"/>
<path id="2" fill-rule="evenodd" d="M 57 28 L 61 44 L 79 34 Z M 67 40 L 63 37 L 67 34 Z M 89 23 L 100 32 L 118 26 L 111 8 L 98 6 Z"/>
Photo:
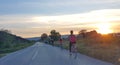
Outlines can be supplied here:
<path id="1" fill-rule="evenodd" d="M 78 14 L 97 9 L 120 8 L 119 0 L 22 0 L 0 1 L 0 14 Z"/>

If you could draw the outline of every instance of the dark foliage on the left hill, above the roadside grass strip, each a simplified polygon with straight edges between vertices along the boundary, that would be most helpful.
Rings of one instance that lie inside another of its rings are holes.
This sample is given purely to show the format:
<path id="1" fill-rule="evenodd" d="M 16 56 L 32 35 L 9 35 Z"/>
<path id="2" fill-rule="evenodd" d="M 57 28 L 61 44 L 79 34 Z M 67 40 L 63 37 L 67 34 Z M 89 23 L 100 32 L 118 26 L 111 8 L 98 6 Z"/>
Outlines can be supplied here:
<path id="1" fill-rule="evenodd" d="M 15 44 L 21 44 L 25 42 L 27 43 L 30 41 L 7 33 L 6 31 L 0 31 L 0 48 L 10 48 L 13 47 Z"/>

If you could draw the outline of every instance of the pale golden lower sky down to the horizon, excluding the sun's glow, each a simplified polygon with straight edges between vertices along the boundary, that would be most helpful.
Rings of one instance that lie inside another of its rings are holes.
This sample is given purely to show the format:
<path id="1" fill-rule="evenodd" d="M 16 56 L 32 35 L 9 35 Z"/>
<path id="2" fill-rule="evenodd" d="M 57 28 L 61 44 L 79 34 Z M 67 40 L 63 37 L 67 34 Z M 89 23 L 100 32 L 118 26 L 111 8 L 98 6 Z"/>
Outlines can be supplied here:
<path id="1" fill-rule="evenodd" d="M 10 29 L 13 33 L 28 37 L 49 33 L 50 30 L 56 29 L 65 33 L 71 29 L 78 31 L 80 29 L 96 29 L 96 24 L 108 22 L 114 28 L 120 25 L 120 9 L 103 9 L 94 10 L 79 14 L 69 15 L 1 15 L 1 28 Z M 113 28 L 113 29 L 114 29 Z M 116 29 L 119 29 L 117 27 Z M 25 36 L 26 35 L 26 36 Z"/>

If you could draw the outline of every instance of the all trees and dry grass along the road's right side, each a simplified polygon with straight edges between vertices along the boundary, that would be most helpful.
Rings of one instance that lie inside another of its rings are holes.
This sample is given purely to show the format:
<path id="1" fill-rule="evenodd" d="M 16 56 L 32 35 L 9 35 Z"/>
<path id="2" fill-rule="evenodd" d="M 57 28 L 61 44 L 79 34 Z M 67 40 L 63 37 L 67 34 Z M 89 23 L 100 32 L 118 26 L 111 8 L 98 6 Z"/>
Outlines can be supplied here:
<path id="1" fill-rule="evenodd" d="M 54 39 L 54 46 L 60 46 L 59 38 L 63 38 L 63 48 L 69 49 L 68 37 L 60 34 L 56 34 L 55 30 L 52 30 L 52 36 L 43 34 L 41 38 L 49 41 L 48 38 Z M 50 32 L 50 33 L 51 33 Z M 54 33 L 53 33 L 54 32 Z M 78 52 L 99 60 L 120 65 L 120 36 L 113 34 L 99 34 L 95 30 L 87 32 L 87 30 L 79 31 L 77 36 L 77 49 Z M 47 42 L 50 44 L 49 42 Z M 53 44 L 52 44 L 53 45 Z"/>

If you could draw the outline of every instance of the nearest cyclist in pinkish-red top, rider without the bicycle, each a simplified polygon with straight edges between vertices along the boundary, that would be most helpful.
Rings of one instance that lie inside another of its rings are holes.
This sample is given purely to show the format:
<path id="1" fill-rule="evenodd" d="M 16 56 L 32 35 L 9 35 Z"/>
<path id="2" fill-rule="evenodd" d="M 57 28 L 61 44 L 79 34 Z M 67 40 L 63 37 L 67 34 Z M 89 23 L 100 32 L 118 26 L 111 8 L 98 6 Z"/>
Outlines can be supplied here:
<path id="1" fill-rule="evenodd" d="M 73 34 L 73 30 L 70 31 L 69 42 L 70 42 L 69 43 L 69 52 L 70 52 L 70 55 L 71 55 L 72 47 L 75 48 L 75 44 L 76 44 L 76 36 Z"/>

